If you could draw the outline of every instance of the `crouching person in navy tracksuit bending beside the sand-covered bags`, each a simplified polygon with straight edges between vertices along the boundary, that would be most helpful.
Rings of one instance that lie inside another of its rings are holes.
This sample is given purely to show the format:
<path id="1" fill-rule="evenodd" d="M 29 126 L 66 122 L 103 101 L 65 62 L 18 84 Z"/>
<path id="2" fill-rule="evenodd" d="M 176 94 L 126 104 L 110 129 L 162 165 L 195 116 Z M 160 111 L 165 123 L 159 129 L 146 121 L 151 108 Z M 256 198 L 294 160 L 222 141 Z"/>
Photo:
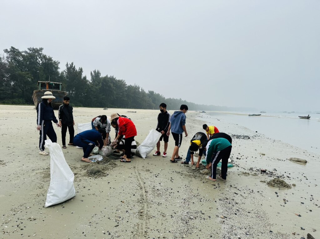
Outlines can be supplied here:
<path id="1" fill-rule="evenodd" d="M 103 146 L 102 134 L 105 131 L 103 129 L 97 130 L 86 130 L 83 131 L 73 138 L 73 145 L 83 148 L 83 157 L 81 161 L 90 163 L 88 159 L 89 154 L 92 152 L 94 146 L 98 146 L 99 150 Z"/>

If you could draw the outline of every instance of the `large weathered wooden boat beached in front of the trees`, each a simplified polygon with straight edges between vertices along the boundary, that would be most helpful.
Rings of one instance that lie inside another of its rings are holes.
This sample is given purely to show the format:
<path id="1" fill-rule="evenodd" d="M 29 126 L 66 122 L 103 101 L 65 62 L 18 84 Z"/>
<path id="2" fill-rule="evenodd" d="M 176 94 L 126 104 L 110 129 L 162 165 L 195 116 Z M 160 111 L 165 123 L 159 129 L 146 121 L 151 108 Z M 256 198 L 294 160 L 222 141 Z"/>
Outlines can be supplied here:
<path id="1" fill-rule="evenodd" d="M 52 101 L 52 108 L 58 109 L 63 103 L 63 97 L 67 95 L 67 92 L 61 91 L 61 82 L 51 82 L 51 81 L 38 81 L 37 90 L 33 91 L 32 100 L 37 107 L 37 105 L 42 101 L 41 97 L 44 92 L 51 91 L 53 96 L 56 97 Z"/>

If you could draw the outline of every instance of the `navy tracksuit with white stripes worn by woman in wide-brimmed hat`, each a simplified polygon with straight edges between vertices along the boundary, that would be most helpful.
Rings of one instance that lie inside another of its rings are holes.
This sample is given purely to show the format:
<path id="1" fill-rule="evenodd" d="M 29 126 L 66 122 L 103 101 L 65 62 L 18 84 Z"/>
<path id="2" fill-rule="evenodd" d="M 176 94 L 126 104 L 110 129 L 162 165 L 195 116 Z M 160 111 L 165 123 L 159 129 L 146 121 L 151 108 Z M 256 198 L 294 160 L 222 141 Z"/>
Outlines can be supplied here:
<path id="1" fill-rule="evenodd" d="M 47 136 L 53 143 L 57 143 L 57 135 L 52 127 L 51 121 L 58 123 L 51 103 L 45 104 L 44 101 L 42 101 L 37 107 L 37 124 L 41 126 L 39 140 L 39 148 L 41 151 L 44 151 L 44 140 L 47 139 Z"/>

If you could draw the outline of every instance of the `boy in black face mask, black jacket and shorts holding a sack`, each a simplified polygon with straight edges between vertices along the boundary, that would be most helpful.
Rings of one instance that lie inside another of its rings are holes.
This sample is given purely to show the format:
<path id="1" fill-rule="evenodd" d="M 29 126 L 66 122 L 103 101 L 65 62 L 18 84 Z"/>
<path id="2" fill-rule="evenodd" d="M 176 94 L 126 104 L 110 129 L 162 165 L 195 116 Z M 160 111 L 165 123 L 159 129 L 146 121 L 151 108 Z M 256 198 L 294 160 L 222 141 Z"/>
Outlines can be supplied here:
<path id="1" fill-rule="evenodd" d="M 168 148 L 168 141 L 169 141 L 169 136 L 167 136 L 166 132 L 168 131 L 169 124 L 171 121 L 171 116 L 168 113 L 167 105 L 165 103 L 161 103 L 160 106 L 160 113 L 158 115 L 158 124 L 156 127 L 156 131 L 160 132 L 162 135 L 157 143 L 157 151 L 154 153 L 154 156 L 159 156 L 161 155 L 160 152 L 160 141 L 164 141 L 164 152 L 162 157 L 167 157 L 167 148 Z"/>

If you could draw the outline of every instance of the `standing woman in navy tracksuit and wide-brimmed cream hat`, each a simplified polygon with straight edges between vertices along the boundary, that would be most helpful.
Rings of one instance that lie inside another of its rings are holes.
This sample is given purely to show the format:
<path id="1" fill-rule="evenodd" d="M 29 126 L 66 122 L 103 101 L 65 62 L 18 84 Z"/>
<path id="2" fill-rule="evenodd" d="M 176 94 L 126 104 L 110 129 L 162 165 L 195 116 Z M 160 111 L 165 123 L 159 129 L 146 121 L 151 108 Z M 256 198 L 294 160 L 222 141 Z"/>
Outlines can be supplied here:
<path id="1" fill-rule="evenodd" d="M 42 102 L 37 107 L 37 130 L 40 131 L 39 154 L 42 155 L 49 154 L 44 151 L 44 140 L 47 139 L 47 135 L 53 143 L 57 143 L 57 135 L 54 132 L 51 121 L 56 123 L 58 127 L 61 127 L 51 106 L 51 101 L 55 98 L 50 91 L 46 91 L 44 92 L 44 96 L 41 97 Z"/>

